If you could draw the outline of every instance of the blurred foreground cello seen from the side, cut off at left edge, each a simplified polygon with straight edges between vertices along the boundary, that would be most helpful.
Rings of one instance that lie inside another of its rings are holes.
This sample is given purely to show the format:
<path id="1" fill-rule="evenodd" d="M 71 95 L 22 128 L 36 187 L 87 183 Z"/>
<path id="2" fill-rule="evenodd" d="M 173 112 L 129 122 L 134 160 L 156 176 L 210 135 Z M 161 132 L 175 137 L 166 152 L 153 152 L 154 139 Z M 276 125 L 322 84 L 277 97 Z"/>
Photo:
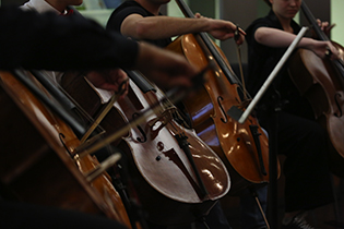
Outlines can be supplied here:
<path id="1" fill-rule="evenodd" d="M 98 170 L 96 158 L 73 155 L 80 141 L 72 129 L 11 73 L 0 73 L 0 85 L 5 107 L 0 114 L 1 132 L 5 133 L 0 142 L 4 197 L 102 215 L 131 228 L 123 204 L 108 174 Z"/>

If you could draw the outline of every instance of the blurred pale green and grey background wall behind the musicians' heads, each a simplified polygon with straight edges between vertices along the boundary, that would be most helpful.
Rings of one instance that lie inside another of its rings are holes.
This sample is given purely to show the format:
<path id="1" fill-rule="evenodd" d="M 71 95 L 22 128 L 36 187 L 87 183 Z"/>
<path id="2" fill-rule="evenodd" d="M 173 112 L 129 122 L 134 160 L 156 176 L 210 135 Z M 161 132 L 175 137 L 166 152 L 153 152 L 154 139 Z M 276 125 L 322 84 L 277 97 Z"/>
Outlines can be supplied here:
<path id="1" fill-rule="evenodd" d="M 1 5 L 21 5 L 27 0 L 0 0 Z M 78 8 L 87 17 L 92 17 L 105 25 L 112 10 L 123 0 L 84 0 Z M 269 7 L 263 0 L 185 0 L 193 12 L 200 12 L 204 16 L 230 20 L 244 29 L 257 17 L 268 13 Z M 331 39 L 344 44 L 344 1 L 343 0 L 304 0 L 313 15 L 322 21 L 335 23 Z M 178 5 L 171 0 L 163 9 L 163 13 L 174 16 L 183 16 Z M 296 20 L 301 25 L 308 25 L 307 20 L 300 14 Z M 225 52 L 230 63 L 237 63 L 237 52 L 233 39 L 217 43 Z M 242 62 L 247 62 L 246 44 L 241 46 Z"/>

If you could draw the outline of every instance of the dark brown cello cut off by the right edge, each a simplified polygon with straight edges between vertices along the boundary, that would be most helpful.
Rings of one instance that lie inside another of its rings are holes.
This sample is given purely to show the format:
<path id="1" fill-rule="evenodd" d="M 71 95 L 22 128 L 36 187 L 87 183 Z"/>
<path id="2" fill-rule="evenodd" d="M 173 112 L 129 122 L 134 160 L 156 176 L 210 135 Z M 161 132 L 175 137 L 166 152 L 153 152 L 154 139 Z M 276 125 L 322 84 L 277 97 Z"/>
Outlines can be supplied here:
<path id="1" fill-rule="evenodd" d="M 305 1 L 301 10 L 318 39 L 330 40 L 318 26 L 317 20 Z M 288 72 L 300 95 L 310 103 L 313 117 L 329 135 L 329 165 L 336 176 L 344 176 L 344 49 L 331 41 L 340 50 L 340 59 L 320 59 L 312 51 L 298 49 L 290 57 Z"/>

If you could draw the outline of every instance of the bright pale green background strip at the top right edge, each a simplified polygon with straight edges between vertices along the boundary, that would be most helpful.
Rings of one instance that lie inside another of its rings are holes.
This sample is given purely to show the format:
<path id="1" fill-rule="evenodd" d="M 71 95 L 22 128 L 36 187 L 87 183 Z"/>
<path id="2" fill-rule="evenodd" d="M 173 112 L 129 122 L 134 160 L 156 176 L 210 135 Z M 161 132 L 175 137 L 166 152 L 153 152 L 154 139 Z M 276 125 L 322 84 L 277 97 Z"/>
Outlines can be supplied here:
<path id="1" fill-rule="evenodd" d="M 344 45 L 344 1 L 331 0 L 331 22 L 335 23 L 335 26 L 331 31 L 331 39 Z"/>

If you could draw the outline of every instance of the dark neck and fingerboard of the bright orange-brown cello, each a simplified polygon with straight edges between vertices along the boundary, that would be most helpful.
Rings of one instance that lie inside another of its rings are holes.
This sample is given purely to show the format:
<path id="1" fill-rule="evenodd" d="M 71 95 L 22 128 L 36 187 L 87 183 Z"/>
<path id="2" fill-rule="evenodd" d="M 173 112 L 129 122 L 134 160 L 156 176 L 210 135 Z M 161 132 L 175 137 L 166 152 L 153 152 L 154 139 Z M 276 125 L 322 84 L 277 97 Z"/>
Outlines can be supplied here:
<path id="1" fill-rule="evenodd" d="M 191 9 L 182 1 L 182 0 L 176 0 L 177 4 L 179 5 L 180 10 L 182 11 L 183 15 L 186 17 L 194 17 L 194 13 L 191 11 Z M 198 34 L 202 41 L 204 43 L 206 49 L 211 52 L 211 55 L 214 57 L 215 61 L 226 75 L 227 80 L 230 82 L 230 84 L 238 84 L 239 81 L 235 73 L 227 67 L 225 60 L 221 57 L 218 53 L 216 47 L 211 41 L 210 37 L 206 33 L 199 33 Z"/>

